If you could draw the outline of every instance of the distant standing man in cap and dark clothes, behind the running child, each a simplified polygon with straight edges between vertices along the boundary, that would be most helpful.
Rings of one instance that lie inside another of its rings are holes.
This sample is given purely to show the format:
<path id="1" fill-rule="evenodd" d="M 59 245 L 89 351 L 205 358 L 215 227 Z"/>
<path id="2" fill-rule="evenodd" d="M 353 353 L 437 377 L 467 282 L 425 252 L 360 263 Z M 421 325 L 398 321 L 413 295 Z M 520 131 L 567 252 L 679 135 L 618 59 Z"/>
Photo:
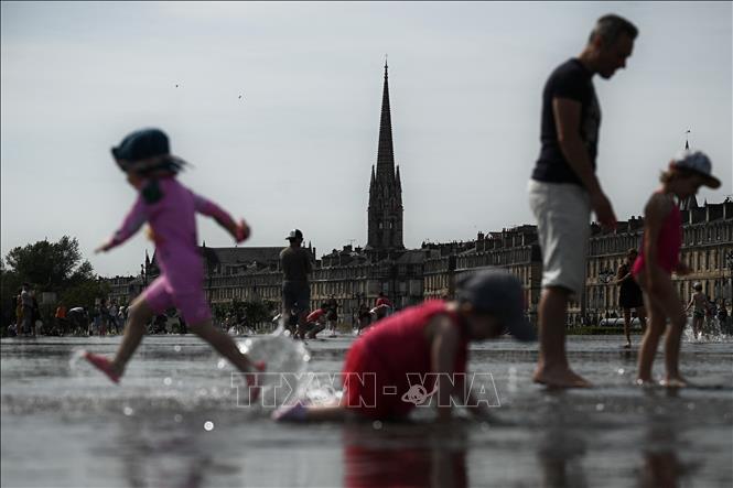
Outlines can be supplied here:
<path id="1" fill-rule="evenodd" d="M 301 247 L 303 232 L 291 230 L 285 238 L 290 246 L 280 251 L 280 268 L 282 269 L 282 319 L 284 324 L 290 321 L 291 311 L 298 314 L 298 329 L 294 336 L 305 338 L 308 311 L 311 302 L 311 286 L 308 275 L 313 271 L 309 252 Z"/>

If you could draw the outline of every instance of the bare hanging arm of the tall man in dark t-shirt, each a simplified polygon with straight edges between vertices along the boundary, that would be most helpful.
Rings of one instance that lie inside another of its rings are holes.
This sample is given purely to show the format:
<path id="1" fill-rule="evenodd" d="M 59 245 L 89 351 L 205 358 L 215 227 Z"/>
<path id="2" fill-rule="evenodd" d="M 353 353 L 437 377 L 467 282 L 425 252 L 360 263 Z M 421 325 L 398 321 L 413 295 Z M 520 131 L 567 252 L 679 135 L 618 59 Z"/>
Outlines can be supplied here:
<path id="1" fill-rule="evenodd" d="M 616 215 L 611 202 L 601 189 L 595 177 L 588 150 L 580 138 L 580 116 L 582 106 L 570 98 L 553 98 L 552 112 L 558 132 L 558 143 L 565 161 L 583 183 L 591 197 L 591 206 L 599 221 L 610 228 L 616 227 Z"/>

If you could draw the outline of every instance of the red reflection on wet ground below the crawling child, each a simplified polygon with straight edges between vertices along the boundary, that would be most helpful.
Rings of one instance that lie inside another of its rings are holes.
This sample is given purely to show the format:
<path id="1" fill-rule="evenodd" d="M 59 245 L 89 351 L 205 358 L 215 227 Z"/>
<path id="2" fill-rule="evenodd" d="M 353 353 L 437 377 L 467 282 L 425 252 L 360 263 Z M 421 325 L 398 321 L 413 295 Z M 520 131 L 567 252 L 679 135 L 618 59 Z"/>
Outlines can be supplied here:
<path id="1" fill-rule="evenodd" d="M 465 487 L 466 429 L 459 422 L 346 425 L 344 486 Z"/>

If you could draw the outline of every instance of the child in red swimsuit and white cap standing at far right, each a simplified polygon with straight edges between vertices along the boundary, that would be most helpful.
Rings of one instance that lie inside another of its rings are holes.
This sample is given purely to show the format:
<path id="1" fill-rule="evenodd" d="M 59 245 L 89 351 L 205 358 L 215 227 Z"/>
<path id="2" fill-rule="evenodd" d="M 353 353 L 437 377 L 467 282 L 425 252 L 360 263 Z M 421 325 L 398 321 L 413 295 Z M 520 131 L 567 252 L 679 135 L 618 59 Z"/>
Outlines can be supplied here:
<path id="1" fill-rule="evenodd" d="M 690 269 L 680 262 L 682 223 L 678 202 L 698 193 L 701 185 L 720 186 L 712 176 L 711 163 L 702 152 L 682 151 L 669 163 L 660 176 L 661 187 L 656 191 L 644 209 L 644 243 L 634 262 L 634 278 L 642 286 L 648 326 L 639 348 L 637 384 L 651 383 L 651 366 L 661 335 L 665 339 L 666 376 L 660 384 L 685 387 L 687 381 L 679 372 L 679 350 L 682 328 L 687 322 L 682 302 L 671 280 L 671 273 L 688 274 Z M 667 318 L 670 324 L 667 325 Z"/>

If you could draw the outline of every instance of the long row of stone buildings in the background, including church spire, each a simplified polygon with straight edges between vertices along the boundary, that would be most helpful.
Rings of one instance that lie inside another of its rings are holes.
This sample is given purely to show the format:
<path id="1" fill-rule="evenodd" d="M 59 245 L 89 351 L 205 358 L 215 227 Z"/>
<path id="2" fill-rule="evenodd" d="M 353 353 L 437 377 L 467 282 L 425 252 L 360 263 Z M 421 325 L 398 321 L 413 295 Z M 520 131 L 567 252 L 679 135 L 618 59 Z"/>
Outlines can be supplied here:
<path id="1" fill-rule="evenodd" d="M 339 322 L 349 323 L 359 304 L 373 307 L 379 293 L 386 294 L 399 310 L 424 300 L 452 299 L 456 282 L 464 274 L 502 269 L 521 281 L 526 310 L 535 321 L 542 276 L 536 226 L 479 232 L 475 240 L 466 242 L 423 242 L 420 249 L 405 249 L 402 186 L 399 166 L 395 166 L 387 69 L 385 65 L 377 164 L 376 170 L 371 167 L 369 182 L 367 243 L 364 248 L 334 249 L 320 260 L 309 243 L 306 249 L 313 261 L 311 310 L 333 297 L 338 304 Z M 699 281 L 711 297 L 730 301 L 733 202 L 705 203 L 700 207 L 691 198 L 682 208 L 682 259 L 693 272 L 689 276 L 675 276 L 681 296 L 687 300 L 692 283 Z M 606 313 L 618 313 L 616 270 L 629 248 L 639 248 L 643 229 L 642 218 L 621 221 L 613 231 L 591 225 L 585 291 L 571 300 L 569 324 L 594 323 Z M 204 289 L 209 303 L 234 300 L 280 303 L 281 249 L 207 248 L 204 243 L 201 248 L 206 267 Z M 117 279 L 116 296 L 132 297 L 157 275 L 154 257 L 152 262 L 145 257 L 140 276 L 130 281 Z"/>

